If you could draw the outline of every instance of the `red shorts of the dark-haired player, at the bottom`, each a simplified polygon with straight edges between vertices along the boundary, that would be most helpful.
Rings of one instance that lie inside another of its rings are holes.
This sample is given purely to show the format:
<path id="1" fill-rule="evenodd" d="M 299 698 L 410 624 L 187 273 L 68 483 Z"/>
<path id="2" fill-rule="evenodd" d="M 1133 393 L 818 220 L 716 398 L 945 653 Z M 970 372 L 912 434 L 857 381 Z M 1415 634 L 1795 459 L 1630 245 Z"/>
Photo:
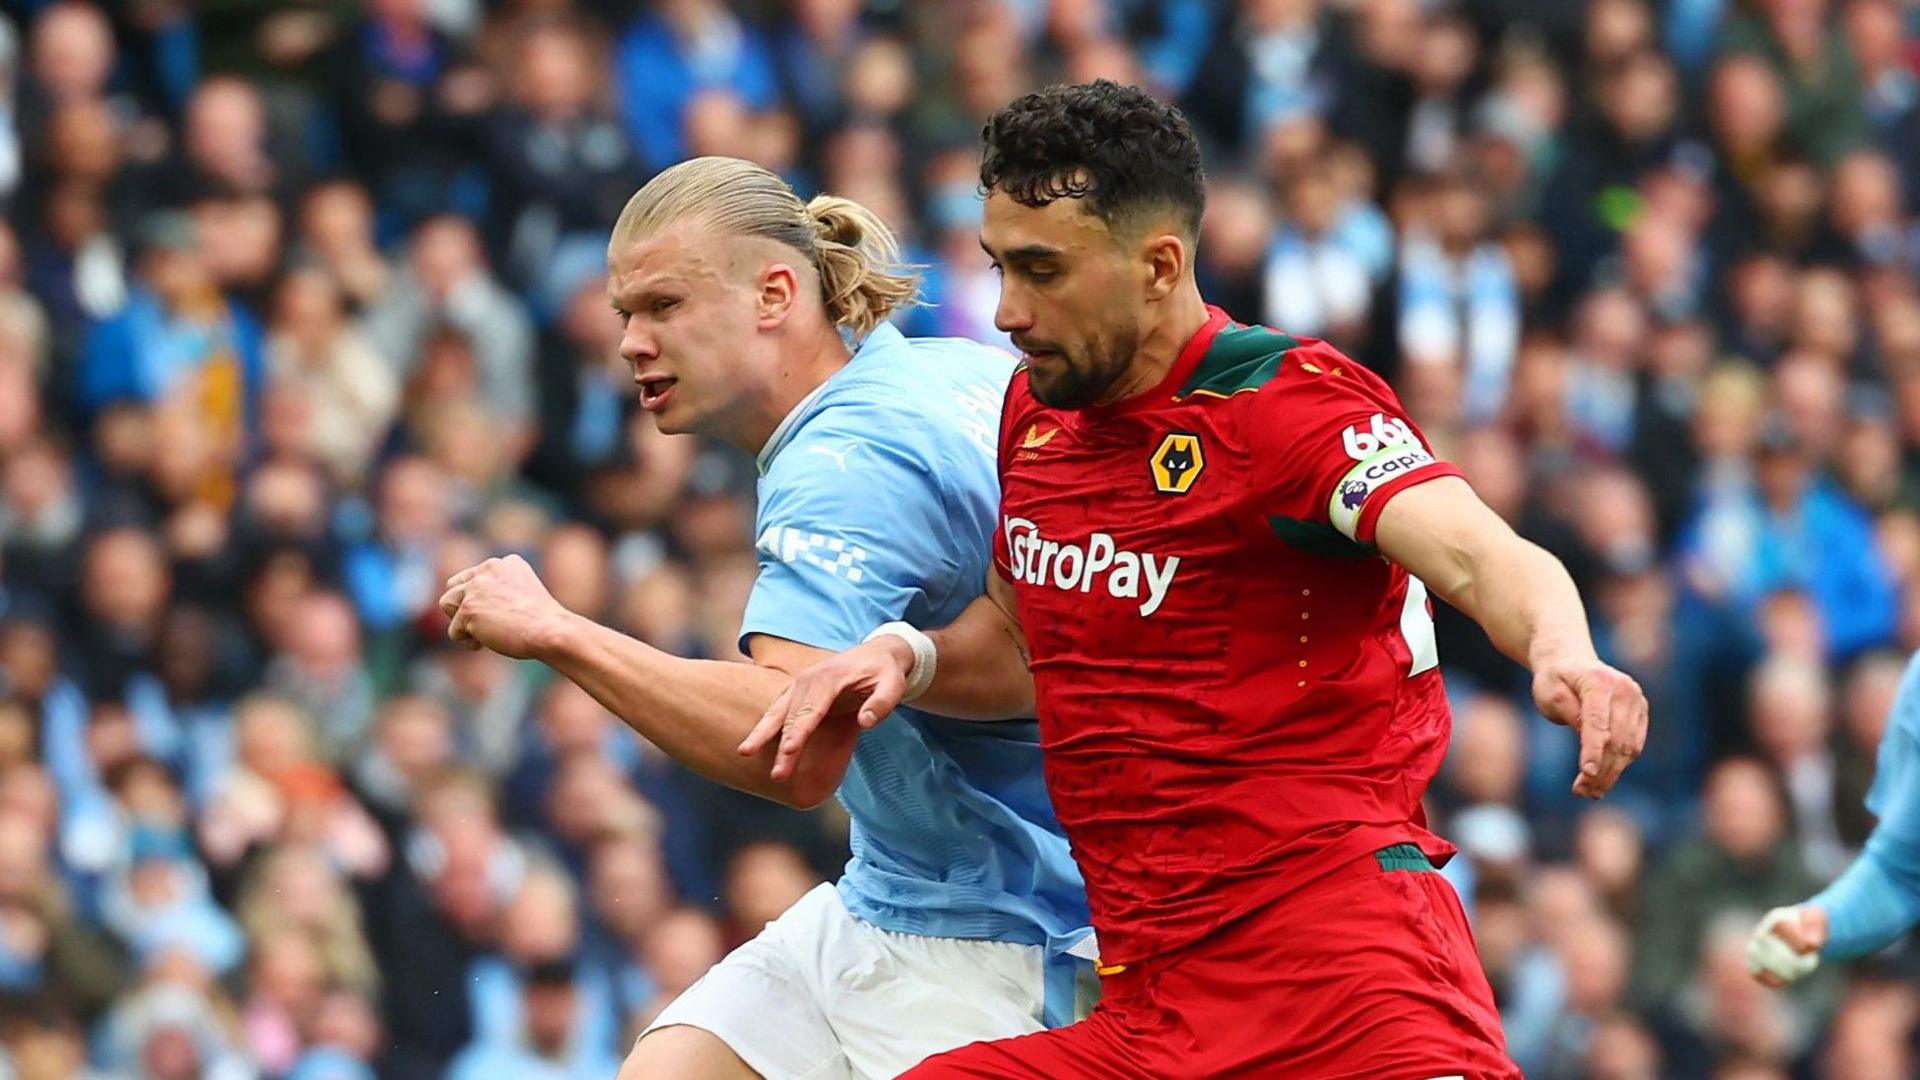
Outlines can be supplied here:
<path id="1" fill-rule="evenodd" d="M 1505 1045 L 1453 886 L 1398 846 L 1106 976 L 1077 1024 L 904 1076 L 1507 1080 L 1521 1070 Z"/>

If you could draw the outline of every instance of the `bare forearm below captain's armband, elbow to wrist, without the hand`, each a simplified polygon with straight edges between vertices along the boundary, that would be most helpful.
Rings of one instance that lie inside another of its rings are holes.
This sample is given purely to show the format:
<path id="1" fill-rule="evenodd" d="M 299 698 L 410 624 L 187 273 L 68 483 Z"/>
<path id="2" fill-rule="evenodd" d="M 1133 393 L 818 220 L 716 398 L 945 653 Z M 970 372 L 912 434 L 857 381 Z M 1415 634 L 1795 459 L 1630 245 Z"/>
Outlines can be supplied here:
<path id="1" fill-rule="evenodd" d="M 1561 657 L 1592 657 L 1580 592 L 1549 552 L 1513 532 L 1486 538 L 1457 559 L 1453 580 L 1427 586 L 1486 630 L 1494 648 L 1538 671 Z"/>

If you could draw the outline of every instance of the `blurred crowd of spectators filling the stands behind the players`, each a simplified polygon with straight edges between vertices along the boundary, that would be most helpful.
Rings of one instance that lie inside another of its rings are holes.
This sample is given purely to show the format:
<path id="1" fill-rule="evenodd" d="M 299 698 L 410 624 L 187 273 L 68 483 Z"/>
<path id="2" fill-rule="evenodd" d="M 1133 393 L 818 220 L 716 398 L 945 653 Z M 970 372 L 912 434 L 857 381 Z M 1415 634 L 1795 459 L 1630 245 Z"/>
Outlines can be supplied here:
<path id="1" fill-rule="evenodd" d="M 666 438 L 605 233 L 695 154 L 856 198 L 1004 342 L 981 119 L 1181 102 L 1208 296 L 1325 336 L 1559 553 L 1653 740 L 1605 803 L 1440 613 L 1432 811 L 1546 1080 L 1903 1080 L 1895 949 L 1753 920 L 1859 849 L 1920 648 L 1912 0 L 0 2 L 0 1076 L 612 1076 L 845 859 L 445 575 L 737 657 L 753 465 Z"/>

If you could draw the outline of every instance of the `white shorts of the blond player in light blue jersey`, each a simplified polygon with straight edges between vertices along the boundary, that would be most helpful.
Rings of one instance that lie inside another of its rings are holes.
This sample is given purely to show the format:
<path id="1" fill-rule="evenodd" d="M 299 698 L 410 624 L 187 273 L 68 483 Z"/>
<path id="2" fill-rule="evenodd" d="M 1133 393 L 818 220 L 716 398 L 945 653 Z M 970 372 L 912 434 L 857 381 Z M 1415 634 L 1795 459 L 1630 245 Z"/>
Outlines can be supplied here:
<path id="1" fill-rule="evenodd" d="M 854 919 L 824 884 L 708 969 L 647 1032 L 710 1032 L 766 1080 L 883 1080 L 970 1042 L 1041 1030 L 1043 953 L 893 934 Z"/>

